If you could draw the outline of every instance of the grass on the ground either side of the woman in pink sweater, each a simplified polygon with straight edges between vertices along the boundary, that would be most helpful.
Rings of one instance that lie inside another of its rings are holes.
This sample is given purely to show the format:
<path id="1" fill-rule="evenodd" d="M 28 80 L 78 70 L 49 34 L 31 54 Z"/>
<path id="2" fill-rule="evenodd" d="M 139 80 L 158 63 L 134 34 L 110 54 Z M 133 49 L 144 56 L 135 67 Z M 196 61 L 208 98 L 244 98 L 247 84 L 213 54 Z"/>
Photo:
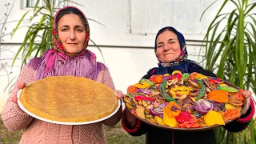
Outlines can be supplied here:
<path id="1" fill-rule="evenodd" d="M 127 134 L 122 128 L 121 122 L 116 126 L 105 126 L 105 135 L 109 144 L 142 144 L 145 143 L 145 135 L 140 137 L 133 137 Z M 18 144 L 22 137 L 22 130 L 17 132 L 10 132 L 2 123 L 0 115 L 0 144 Z"/>

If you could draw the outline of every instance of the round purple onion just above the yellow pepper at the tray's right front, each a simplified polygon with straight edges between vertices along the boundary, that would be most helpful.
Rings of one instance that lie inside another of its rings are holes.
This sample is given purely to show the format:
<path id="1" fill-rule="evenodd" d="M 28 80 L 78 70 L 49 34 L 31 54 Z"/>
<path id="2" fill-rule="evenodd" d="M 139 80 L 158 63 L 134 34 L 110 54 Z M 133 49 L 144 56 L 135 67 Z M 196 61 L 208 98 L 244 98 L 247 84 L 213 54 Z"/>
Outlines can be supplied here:
<path id="1" fill-rule="evenodd" d="M 213 110 L 214 105 L 204 99 L 200 99 L 194 103 L 194 109 L 200 114 L 206 114 L 208 111 Z"/>

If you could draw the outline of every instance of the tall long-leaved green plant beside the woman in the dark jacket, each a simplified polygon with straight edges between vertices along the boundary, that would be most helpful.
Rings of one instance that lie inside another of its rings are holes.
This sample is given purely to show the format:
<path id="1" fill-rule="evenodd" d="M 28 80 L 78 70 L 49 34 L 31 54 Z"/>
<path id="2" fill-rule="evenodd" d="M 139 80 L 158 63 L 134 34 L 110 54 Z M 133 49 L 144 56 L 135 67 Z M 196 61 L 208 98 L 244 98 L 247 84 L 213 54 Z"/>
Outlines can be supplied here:
<path id="1" fill-rule="evenodd" d="M 227 10 L 230 12 L 222 13 L 228 4 L 233 4 L 234 10 L 230 10 L 229 5 Z M 241 89 L 252 89 L 254 93 L 256 92 L 256 58 L 254 56 L 256 54 L 256 19 L 252 10 L 255 6 L 256 2 L 249 3 L 248 0 L 224 0 L 204 38 L 206 69 L 217 71 L 219 78 Z M 252 121 L 248 126 L 250 130 L 247 131 L 250 135 L 245 130 L 240 133 L 230 133 L 223 128 L 216 129 L 218 143 L 255 143 L 254 122 Z"/>

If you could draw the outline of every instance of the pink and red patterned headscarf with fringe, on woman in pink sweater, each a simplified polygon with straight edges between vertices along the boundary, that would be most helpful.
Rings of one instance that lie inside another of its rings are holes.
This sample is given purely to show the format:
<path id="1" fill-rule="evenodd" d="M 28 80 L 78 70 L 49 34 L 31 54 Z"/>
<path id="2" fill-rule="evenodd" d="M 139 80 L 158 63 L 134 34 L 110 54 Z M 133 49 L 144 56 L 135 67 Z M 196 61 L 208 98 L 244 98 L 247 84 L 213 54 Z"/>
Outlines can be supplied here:
<path id="1" fill-rule="evenodd" d="M 90 50 L 87 50 L 88 41 L 90 38 L 90 29 L 86 16 L 81 10 L 78 10 L 84 20 L 83 22 L 86 28 L 86 38 L 82 50 L 77 54 L 70 54 L 66 51 L 60 38 L 58 37 L 57 29 L 57 17 L 58 14 L 65 9 L 76 9 L 74 6 L 66 6 L 55 14 L 54 26 L 53 26 L 53 49 L 47 50 L 42 54 L 42 58 L 34 58 L 30 61 L 30 64 L 36 69 L 35 80 L 52 77 L 52 76 L 66 76 L 72 75 L 75 77 L 84 77 L 95 80 L 98 76 L 98 72 L 104 68 L 103 65 L 96 62 L 96 56 Z"/>

